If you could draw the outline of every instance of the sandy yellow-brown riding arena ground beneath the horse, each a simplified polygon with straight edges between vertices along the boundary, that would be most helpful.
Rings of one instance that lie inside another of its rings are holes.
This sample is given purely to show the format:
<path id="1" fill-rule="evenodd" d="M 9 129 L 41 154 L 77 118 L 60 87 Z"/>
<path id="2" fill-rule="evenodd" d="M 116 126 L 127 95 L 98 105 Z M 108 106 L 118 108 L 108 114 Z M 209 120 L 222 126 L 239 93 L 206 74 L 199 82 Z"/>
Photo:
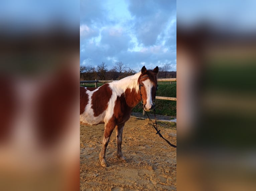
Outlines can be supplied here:
<path id="1" fill-rule="evenodd" d="M 161 125 L 158 129 L 176 145 L 175 129 Z M 80 190 L 176 190 L 176 148 L 155 134 L 148 119 L 131 117 L 126 122 L 122 144 L 126 163 L 116 157 L 113 131 L 106 151 L 110 166 L 100 165 L 103 133 L 104 124 L 80 125 Z"/>

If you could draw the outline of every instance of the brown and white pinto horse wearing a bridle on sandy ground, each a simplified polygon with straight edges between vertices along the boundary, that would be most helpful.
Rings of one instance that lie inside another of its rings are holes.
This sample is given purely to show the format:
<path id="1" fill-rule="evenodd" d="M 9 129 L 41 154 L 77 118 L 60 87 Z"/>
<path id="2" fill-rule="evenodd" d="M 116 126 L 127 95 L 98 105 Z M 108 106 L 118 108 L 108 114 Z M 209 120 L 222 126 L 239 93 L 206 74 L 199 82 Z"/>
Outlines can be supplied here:
<path id="1" fill-rule="evenodd" d="M 80 123 L 97 125 L 105 123 L 102 150 L 99 154 L 101 166 L 107 167 L 106 148 L 115 129 L 117 157 L 120 161 L 127 159 L 122 154 L 122 137 L 124 124 L 130 118 L 132 108 L 140 101 L 143 109 L 149 111 L 157 90 L 158 67 L 102 85 L 99 88 L 80 87 Z"/>

